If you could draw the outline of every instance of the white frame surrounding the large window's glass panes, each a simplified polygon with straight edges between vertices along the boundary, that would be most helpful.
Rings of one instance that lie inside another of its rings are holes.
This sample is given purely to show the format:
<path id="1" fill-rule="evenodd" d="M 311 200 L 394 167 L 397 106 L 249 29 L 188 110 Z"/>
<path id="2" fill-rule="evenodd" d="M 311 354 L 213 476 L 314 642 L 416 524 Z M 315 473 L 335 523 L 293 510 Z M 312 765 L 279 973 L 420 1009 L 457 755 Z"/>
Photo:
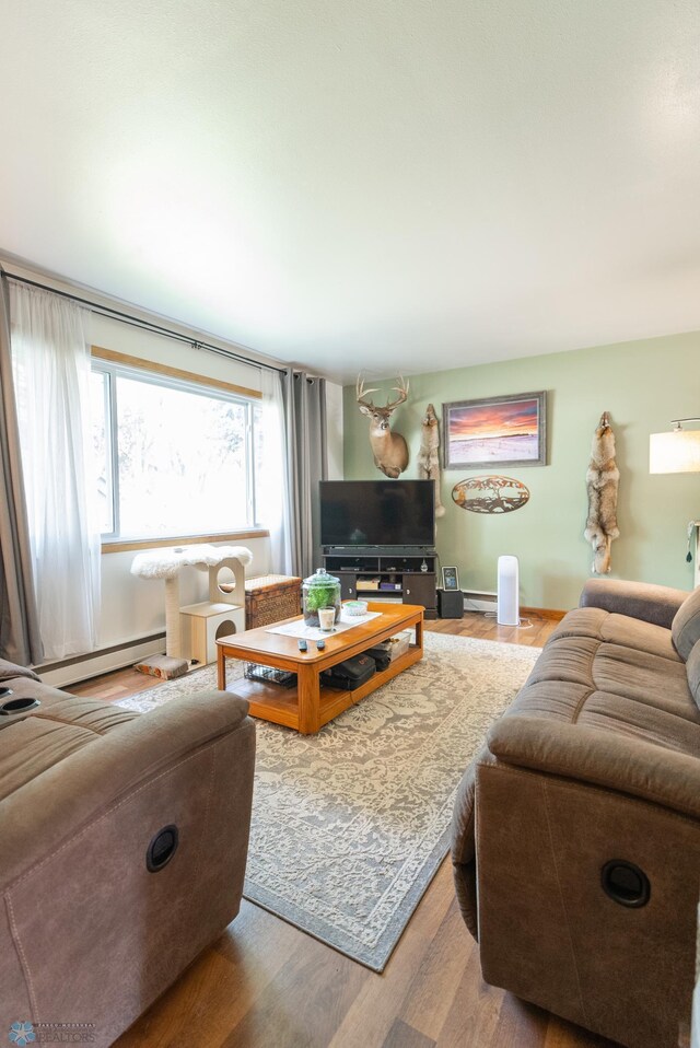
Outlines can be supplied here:
<path id="1" fill-rule="evenodd" d="M 255 485 L 255 408 L 260 401 L 255 397 L 246 397 L 242 394 L 230 393 L 219 385 L 210 385 L 206 379 L 201 382 L 194 380 L 178 379 L 160 372 L 148 371 L 141 366 L 129 366 L 128 364 L 112 363 L 100 357 L 92 359 L 93 373 L 100 373 L 106 376 L 105 389 L 105 439 L 107 444 L 107 490 L 112 500 L 112 531 L 102 532 L 102 542 L 106 545 L 112 543 L 139 543 L 153 539 L 154 543 L 161 542 L 161 536 L 122 536 L 120 533 L 119 520 L 119 433 L 118 433 L 118 403 L 117 403 L 117 379 L 131 379 L 137 382 L 144 382 L 153 386 L 160 386 L 167 389 L 177 389 L 184 393 L 196 394 L 212 400 L 224 400 L 226 403 L 241 405 L 245 409 L 245 464 L 246 464 L 246 529 L 264 527 L 257 520 L 256 508 L 256 485 Z M 235 534 L 235 528 L 224 534 Z M 194 538 L 191 535 L 174 534 L 168 538 Z"/>

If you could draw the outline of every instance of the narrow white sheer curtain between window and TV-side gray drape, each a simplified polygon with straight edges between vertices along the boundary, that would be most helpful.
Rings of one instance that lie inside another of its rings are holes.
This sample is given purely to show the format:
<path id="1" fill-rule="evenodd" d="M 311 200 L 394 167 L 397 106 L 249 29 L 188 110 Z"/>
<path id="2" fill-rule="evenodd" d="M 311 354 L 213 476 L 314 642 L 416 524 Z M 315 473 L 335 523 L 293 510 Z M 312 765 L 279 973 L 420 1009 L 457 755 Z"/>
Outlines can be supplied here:
<path id="1" fill-rule="evenodd" d="M 282 375 L 260 370 L 262 392 L 262 427 L 260 465 L 257 482 L 258 517 L 270 532 L 270 568 L 291 575 L 292 547 L 290 526 L 289 479 L 284 439 L 284 403 Z"/>

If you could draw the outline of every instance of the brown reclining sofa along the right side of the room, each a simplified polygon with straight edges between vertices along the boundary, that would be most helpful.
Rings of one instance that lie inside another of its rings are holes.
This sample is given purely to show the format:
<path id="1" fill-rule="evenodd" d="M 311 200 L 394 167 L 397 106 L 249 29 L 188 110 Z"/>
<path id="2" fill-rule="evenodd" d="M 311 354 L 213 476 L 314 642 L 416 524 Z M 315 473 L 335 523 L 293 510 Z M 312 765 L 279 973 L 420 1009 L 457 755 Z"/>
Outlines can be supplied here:
<path id="1" fill-rule="evenodd" d="M 700 897 L 700 589 L 595 581 L 581 603 L 463 779 L 457 896 L 487 982 L 677 1048 Z"/>

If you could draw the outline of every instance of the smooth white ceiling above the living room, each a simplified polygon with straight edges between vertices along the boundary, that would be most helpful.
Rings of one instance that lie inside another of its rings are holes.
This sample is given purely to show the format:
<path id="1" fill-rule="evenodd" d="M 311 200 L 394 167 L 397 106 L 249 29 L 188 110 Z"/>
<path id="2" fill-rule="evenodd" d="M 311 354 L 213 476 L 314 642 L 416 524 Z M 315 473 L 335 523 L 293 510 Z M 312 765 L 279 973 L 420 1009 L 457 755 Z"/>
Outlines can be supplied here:
<path id="1" fill-rule="evenodd" d="M 0 247 L 337 379 L 700 328 L 697 0 L 0 0 Z"/>

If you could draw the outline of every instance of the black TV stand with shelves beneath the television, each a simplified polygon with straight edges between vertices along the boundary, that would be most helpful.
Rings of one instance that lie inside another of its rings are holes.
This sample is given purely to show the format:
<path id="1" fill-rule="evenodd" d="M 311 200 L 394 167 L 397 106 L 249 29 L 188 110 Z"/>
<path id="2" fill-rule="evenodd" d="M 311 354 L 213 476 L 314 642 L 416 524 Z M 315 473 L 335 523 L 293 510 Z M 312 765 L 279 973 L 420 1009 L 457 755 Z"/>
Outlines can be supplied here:
<path id="1" fill-rule="evenodd" d="M 422 604 L 425 618 L 438 618 L 438 555 L 423 546 L 327 546 L 324 567 L 340 579 L 343 601 L 394 601 Z"/>

